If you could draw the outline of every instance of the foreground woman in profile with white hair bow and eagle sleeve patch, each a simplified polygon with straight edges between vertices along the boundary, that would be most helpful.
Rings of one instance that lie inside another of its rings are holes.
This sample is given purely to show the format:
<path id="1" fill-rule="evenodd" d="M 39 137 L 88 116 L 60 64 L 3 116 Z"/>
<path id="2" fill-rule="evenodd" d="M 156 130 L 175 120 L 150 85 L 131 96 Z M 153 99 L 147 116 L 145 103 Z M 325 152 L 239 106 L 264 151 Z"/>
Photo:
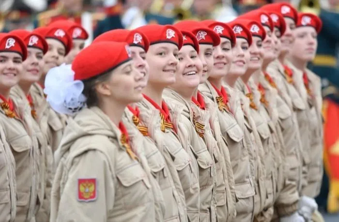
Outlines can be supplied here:
<path id="1" fill-rule="evenodd" d="M 64 159 L 52 187 L 50 221 L 156 221 L 155 200 L 162 195 L 154 195 L 159 187 L 122 123 L 126 105 L 142 99 L 142 74 L 130 56 L 126 43 L 94 43 L 77 55 L 73 71 L 66 66 L 47 74 L 47 99 L 64 100 L 52 107 L 76 114 L 60 146 Z M 74 80 L 63 78 L 56 84 L 53 80 L 62 74 L 73 75 Z M 72 98 L 62 97 L 60 89 Z"/>

